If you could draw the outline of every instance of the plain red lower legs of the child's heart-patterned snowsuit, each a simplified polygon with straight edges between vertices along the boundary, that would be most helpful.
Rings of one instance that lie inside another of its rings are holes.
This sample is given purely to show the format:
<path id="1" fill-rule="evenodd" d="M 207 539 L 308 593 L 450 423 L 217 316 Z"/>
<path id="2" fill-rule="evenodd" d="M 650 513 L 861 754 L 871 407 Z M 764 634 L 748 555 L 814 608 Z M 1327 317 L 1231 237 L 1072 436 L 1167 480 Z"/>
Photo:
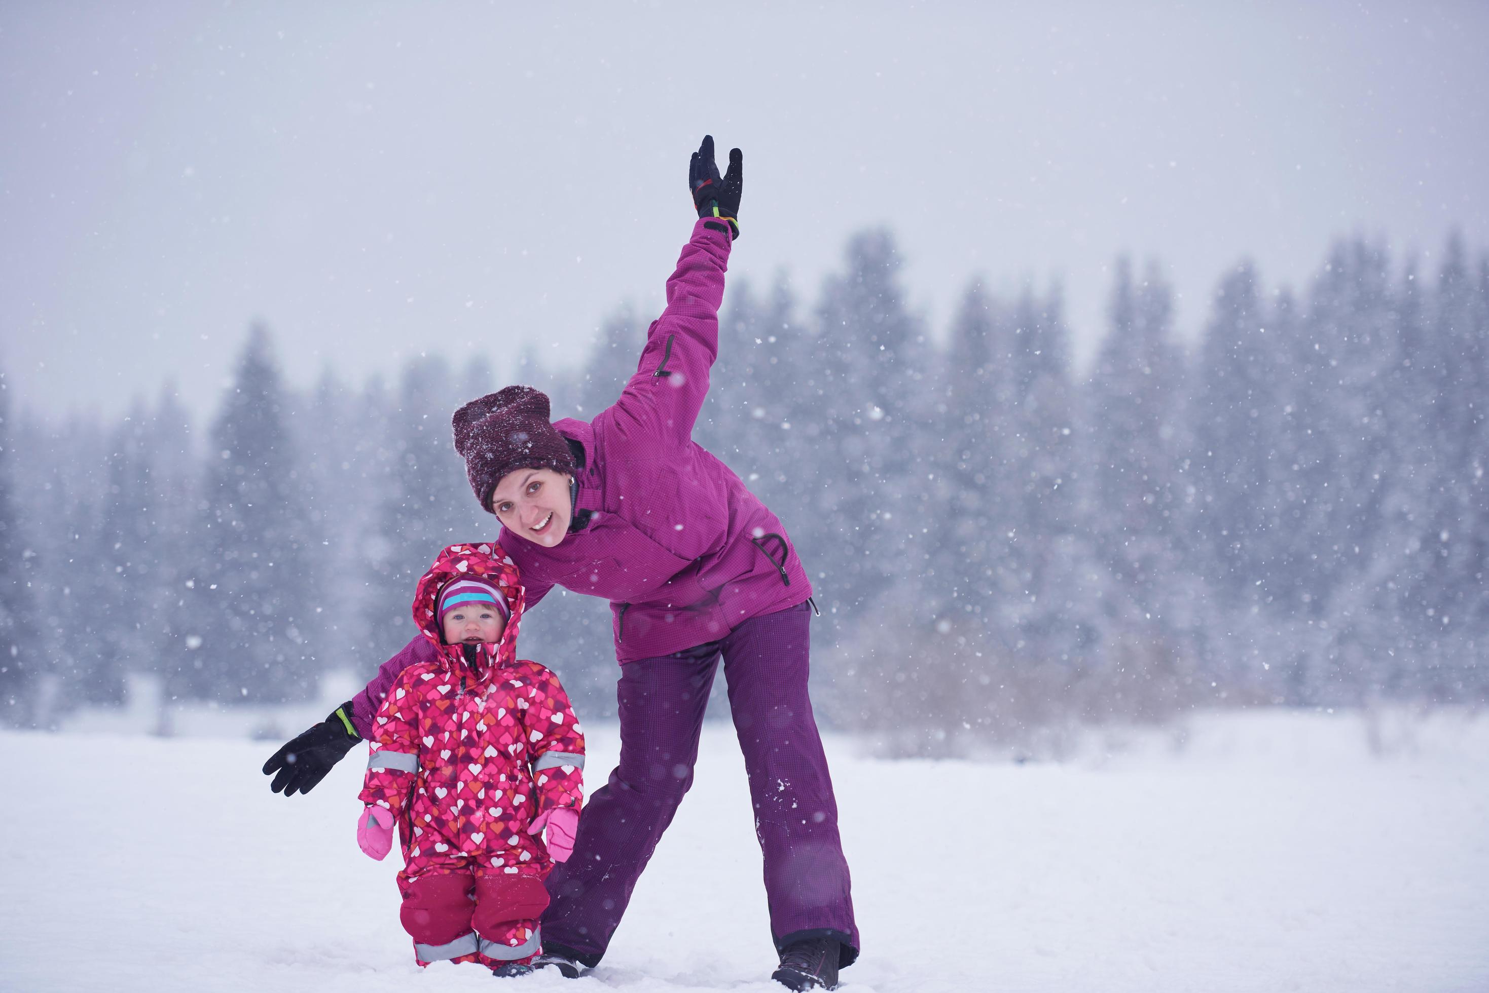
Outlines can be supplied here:
<path id="1" fill-rule="evenodd" d="M 496 865 L 493 865 L 493 861 Z M 502 868 L 500 856 L 415 858 L 398 874 L 399 917 L 418 965 L 526 963 L 542 950 L 538 919 L 548 907 L 542 872 Z"/>

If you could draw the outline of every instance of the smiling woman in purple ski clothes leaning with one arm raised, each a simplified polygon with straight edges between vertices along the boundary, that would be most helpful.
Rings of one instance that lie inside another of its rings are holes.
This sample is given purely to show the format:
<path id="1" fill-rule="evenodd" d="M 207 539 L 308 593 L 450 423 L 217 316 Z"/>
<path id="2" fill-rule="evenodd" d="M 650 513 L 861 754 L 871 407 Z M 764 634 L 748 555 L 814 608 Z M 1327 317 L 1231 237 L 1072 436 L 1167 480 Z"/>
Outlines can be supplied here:
<path id="1" fill-rule="evenodd" d="M 548 397 L 512 386 L 454 415 L 456 450 L 502 524 L 529 609 L 554 587 L 610 601 L 621 662 L 621 761 L 579 819 L 573 858 L 546 886 L 543 956 L 567 977 L 605 954 L 692 783 L 703 710 L 724 658 L 765 858 L 774 978 L 832 989 L 858 957 L 837 802 L 807 697 L 812 584 L 780 521 L 692 442 L 718 354 L 718 310 L 743 186 L 739 149 L 721 179 L 713 138 L 692 156 L 698 222 L 667 280 L 619 400 L 593 421 L 548 421 Z M 365 692 L 265 765 L 286 795 L 314 786 L 356 740 L 427 639 L 389 660 Z M 354 735 L 354 737 L 353 737 Z"/>

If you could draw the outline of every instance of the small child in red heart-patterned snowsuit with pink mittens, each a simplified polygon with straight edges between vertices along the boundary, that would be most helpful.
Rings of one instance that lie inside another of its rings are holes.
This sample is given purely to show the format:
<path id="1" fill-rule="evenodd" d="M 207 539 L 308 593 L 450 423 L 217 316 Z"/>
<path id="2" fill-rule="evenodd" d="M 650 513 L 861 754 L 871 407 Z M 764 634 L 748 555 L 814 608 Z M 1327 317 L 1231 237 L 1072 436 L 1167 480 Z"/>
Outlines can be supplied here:
<path id="1" fill-rule="evenodd" d="M 573 850 L 584 734 L 558 679 L 517 661 L 523 600 L 500 545 L 439 552 L 414 598 L 439 657 L 399 673 L 374 719 L 357 844 L 384 858 L 398 823 L 401 917 L 421 966 L 532 972 L 542 880 Z"/>

